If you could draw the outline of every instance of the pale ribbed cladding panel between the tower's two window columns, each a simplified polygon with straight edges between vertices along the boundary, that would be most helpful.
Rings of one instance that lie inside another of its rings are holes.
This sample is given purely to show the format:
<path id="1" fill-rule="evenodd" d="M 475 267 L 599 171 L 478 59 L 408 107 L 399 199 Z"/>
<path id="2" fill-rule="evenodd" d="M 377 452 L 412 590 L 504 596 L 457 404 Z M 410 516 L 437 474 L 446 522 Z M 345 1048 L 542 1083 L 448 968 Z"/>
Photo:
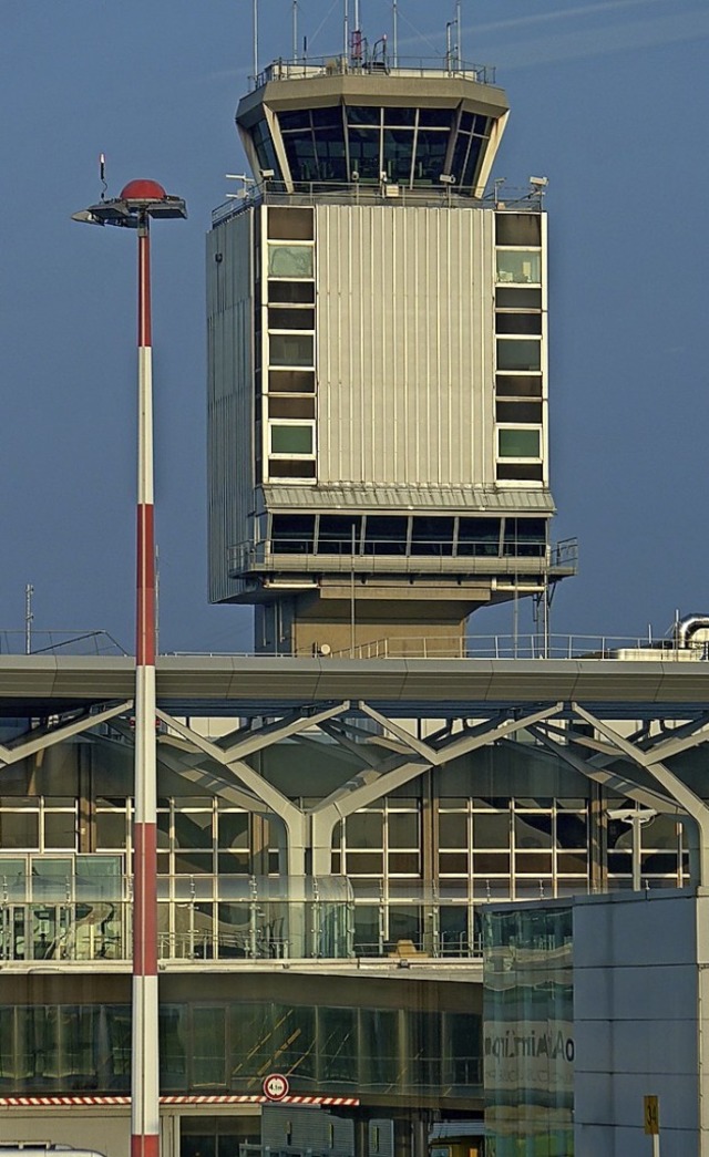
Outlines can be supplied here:
<path id="1" fill-rule="evenodd" d="M 492 484 L 495 214 L 316 221 L 320 481 Z"/>

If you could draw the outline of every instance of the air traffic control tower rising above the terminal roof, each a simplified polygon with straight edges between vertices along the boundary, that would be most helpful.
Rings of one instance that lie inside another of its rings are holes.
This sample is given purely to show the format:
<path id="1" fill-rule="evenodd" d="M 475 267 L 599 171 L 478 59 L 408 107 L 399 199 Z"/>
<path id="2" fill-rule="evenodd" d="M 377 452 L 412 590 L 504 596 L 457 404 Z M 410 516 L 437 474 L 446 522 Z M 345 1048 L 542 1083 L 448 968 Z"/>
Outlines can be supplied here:
<path id="1" fill-rule="evenodd" d="M 548 606 L 541 186 L 485 196 L 509 115 L 460 61 L 278 60 L 207 241 L 210 596 L 256 650 L 458 655 Z"/>

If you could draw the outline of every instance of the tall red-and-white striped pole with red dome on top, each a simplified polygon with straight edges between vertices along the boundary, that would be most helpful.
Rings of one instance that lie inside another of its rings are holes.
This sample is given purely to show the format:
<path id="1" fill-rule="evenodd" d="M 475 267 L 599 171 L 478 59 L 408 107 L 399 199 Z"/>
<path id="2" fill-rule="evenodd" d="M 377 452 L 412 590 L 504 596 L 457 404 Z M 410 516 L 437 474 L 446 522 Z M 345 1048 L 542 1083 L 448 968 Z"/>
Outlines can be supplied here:
<path id="1" fill-rule="evenodd" d="M 155 536 L 151 218 L 184 218 L 178 197 L 155 180 L 131 180 L 120 197 L 74 214 L 90 224 L 138 231 L 138 510 L 136 589 L 136 812 L 133 820 L 133 997 L 131 1157 L 160 1154 L 158 1044 L 158 760 L 155 750 Z"/>

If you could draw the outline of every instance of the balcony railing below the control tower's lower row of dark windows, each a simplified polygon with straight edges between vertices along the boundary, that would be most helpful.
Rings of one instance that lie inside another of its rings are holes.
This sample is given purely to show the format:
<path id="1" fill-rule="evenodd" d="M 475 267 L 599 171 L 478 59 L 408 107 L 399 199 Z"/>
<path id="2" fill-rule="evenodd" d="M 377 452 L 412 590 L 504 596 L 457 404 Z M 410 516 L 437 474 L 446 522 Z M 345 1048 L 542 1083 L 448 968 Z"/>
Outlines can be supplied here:
<path id="1" fill-rule="evenodd" d="M 578 541 L 568 538 L 546 544 L 540 540 L 367 538 L 356 544 L 342 538 L 317 541 L 302 536 L 280 535 L 239 543 L 228 552 L 232 576 L 253 572 L 357 574 L 573 574 Z"/>

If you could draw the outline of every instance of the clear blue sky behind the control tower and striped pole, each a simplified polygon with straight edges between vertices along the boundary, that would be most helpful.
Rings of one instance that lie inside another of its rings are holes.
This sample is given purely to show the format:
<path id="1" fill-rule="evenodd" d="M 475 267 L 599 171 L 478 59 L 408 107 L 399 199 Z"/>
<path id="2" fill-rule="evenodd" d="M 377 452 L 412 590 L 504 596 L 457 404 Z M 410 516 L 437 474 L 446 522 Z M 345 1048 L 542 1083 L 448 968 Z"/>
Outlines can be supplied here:
<path id="1" fill-rule="evenodd" d="M 441 56 L 454 0 L 399 0 L 400 54 Z M 353 0 L 350 0 L 350 10 Z M 370 38 L 389 0 L 361 0 Z M 449 10 L 448 10 L 449 9 Z M 709 611 L 709 6 L 462 0 L 467 59 L 512 115 L 495 176 L 549 178 L 555 537 L 580 573 L 553 629 L 657 634 Z M 291 52 L 291 0 L 260 0 L 260 60 Z M 342 0 L 299 36 L 342 43 Z M 204 235 L 243 159 L 251 0 L 1 0 L 0 631 L 133 638 L 136 251 L 79 227 L 153 177 L 188 222 L 153 231 L 156 519 L 165 650 L 247 650 L 250 612 L 206 602 Z M 472 633 L 510 631 L 509 609 Z"/>

